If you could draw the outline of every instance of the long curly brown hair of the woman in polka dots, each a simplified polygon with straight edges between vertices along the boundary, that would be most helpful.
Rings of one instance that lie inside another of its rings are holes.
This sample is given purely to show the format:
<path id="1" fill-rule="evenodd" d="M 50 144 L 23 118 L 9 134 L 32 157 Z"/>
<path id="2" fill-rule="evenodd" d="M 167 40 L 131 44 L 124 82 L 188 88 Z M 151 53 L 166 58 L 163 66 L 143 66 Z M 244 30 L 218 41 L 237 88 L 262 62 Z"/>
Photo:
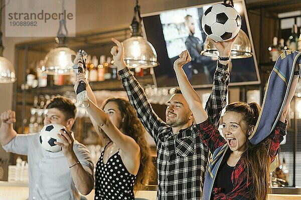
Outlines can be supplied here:
<path id="1" fill-rule="evenodd" d="M 124 119 L 120 129 L 124 131 L 124 134 L 132 137 L 140 147 L 140 166 L 136 175 L 134 190 L 143 189 L 148 183 L 150 172 L 152 172 L 154 168 L 152 157 L 149 154 L 150 149 L 145 139 L 146 130 L 138 119 L 136 110 L 128 100 L 120 97 L 108 98 L 102 103 L 101 108 L 103 109 L 108 102 L 115 102 L 118 105 L 121 118 Z"/>

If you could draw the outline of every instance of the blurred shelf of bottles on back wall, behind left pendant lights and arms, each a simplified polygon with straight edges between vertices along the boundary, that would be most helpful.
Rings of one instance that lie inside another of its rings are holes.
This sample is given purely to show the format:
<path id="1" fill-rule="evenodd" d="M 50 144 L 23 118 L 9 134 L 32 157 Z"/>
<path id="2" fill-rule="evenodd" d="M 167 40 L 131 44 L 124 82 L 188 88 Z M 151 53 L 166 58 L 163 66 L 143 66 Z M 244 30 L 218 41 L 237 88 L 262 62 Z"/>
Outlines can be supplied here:
<path id="1" fill-rule="evenodd" d="M 120 89 L 121 84 L 119 83 L 119 75 L 117 73 L 117 67 L 113 64 L 112 58 L 110 56 L 101 55 L 99 60 L 96 55 L 88 55 L 86 61 L 86 78 L 90 82 L 92 89 Z M 152 75 L 154 73 L 153 68 L 134 68 L 131 69 L 135 77 L 140 79 L 147 79 L 146 84 L 154 84 Z M 143 78 L 144 77 L 144 78 Z M 31 92 L 40 92 L 48 90 L 54 90 L 60 93 L 60 88 L 67 90 L 69 88 L 73 89 L 73 84 L 76 81 L 76 72 L 68 75 L 55 74 L 50 75 L 45 71 L 44 60 L 31 61 L 30 66 L 27 69 L 26 81 L 22 84 L 18 91 L 28 90 Z M 97 86 L 97 84 L 103 84 L 102 86 Z M 107 83 L 107 84 L 105 84 Z M 143 83 L 142 83 L 143 84 Z M 57 90 L 58 89 L 58 90 Z M 49 91 L 48 93 L 51 93 Z"/>

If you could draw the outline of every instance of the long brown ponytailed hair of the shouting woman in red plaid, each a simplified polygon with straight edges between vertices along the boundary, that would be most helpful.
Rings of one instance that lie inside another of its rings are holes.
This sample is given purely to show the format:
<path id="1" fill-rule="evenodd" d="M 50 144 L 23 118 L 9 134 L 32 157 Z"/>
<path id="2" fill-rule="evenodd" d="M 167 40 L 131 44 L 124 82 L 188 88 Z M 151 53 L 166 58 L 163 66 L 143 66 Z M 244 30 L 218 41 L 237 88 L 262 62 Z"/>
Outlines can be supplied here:
<path id="1" fill-rule="evenodd" d="M 247 132 L 256 125 L 259 117 L 260 105 L 255 102 L 245 103 L 242 101 L 230 103 L 226 107 L 226 112 L 234 111 L 242 115 L 242 120 L 246 126 Z M 271 140 L 267 137 L 256 145 L 253 145 L 249 139 L 246 139 L 246 151 L 242 154 L 242 158 L 247 166 L 247 180 L 251 181 L 250 194 L 251 199 L 266 200 L 267 194 L 270 192 L 269 182 L 269 166 L 271 164 L 271 156 L 269 149 Z"/>

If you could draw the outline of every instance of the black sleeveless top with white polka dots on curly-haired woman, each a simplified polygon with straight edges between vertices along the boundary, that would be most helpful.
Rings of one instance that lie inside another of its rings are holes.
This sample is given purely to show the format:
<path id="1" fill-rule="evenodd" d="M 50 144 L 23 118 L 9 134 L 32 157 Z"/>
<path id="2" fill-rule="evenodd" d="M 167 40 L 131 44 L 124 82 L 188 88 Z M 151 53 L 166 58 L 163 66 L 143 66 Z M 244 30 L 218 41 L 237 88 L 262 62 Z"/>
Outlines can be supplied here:
<path id="1" fill-rule="evenodd" d="M 121 160 L 119 151 L 113 154 L 107 163 L 104 164 L 104 150 L 101 152 L 96 164 L 94 199 L 134 200 L 133 186 L 136 176 L 127 171 Z"/>

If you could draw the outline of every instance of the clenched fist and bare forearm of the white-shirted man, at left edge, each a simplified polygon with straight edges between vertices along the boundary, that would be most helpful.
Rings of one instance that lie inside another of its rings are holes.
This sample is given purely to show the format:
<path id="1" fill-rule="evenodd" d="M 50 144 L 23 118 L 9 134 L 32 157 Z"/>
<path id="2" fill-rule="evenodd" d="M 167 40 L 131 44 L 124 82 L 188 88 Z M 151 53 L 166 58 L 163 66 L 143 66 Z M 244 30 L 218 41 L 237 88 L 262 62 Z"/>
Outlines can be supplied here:
<path id="1" fill-rule="evenodd" d="M 16 122 L 16 112 L 13 110 L 3 112 L 1 114 L 1 121 L 0 143 L 1 145 L 5 145 L 17 135 L 17 132 L 13 127 L 13 123 Z"/>

